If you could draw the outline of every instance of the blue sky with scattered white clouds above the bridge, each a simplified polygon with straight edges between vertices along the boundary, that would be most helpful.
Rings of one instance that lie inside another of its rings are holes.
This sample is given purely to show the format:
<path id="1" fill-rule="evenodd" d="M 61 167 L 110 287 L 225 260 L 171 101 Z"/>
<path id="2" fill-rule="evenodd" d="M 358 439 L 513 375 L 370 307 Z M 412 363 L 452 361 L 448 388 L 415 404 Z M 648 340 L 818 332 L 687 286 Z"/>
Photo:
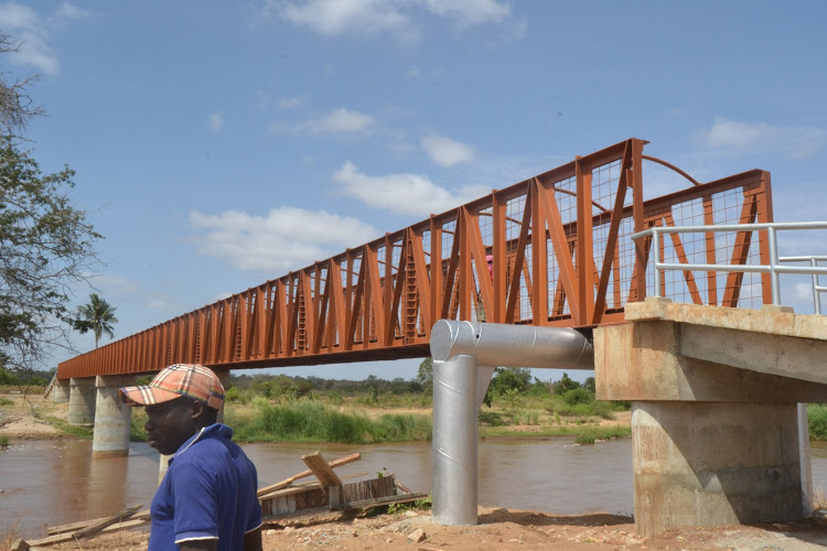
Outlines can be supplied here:
<path id="1" fill-rule="evenodd" d="M 699 181 L 771 171 L 776 220 L 827 219 L 825 21 L 823 0 L 0 1 L 22 43 L 0 71 L 41 75 L 31 154 L 76 171 L 120 338 L 632 137 Z"/>

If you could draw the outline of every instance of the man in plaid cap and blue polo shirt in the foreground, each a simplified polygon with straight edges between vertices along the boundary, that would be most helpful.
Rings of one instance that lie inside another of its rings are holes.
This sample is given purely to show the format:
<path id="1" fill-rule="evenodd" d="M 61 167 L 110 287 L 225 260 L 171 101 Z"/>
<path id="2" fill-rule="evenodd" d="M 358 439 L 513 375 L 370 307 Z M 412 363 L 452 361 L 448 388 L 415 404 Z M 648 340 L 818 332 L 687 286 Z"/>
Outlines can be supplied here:
<path id="1" fill-rule="evenodd" d="M 148 551 L 261 551 L 256 467 L 230 441 L 233 430 L 216 423 L 224 401 L 218 377 L 176 364 L 119 393 L 128 406 L 146 408 L 149 445 L 174 454 L 150 507 Z"/>

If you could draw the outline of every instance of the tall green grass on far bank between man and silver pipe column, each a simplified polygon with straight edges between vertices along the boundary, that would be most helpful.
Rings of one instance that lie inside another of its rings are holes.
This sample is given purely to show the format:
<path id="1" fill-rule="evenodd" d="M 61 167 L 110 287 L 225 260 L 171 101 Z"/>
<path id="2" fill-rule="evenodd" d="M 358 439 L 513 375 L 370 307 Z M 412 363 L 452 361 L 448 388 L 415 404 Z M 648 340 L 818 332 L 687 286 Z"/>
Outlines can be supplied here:
<path id="1" fill-rule="evenodd" d="M 431 418 L 421 414 L 342 411 L 316 400 L 271 406 L 254 400 L 246 410 L 225 410 L 225 422 L 240 442 L 336 442 L 374 444 L 430 440 Z"/>

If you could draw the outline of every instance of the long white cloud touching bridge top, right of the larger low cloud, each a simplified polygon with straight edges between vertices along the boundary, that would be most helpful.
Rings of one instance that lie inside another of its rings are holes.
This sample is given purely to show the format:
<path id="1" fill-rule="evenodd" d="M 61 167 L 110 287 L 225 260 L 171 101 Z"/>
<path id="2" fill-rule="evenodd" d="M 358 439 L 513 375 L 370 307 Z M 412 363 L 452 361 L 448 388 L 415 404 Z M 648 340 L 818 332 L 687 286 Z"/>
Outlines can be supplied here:
<path id="1" fill-rule="evenodd" d="M 443 213 L 490 192 L 484 186 L 474 185 L 452 193 L 419 174 L 368 176 L 350 161 L 333 174 L 333 180 L 344 185 L 343 193 L 368 206 L 422 217 Z"/>

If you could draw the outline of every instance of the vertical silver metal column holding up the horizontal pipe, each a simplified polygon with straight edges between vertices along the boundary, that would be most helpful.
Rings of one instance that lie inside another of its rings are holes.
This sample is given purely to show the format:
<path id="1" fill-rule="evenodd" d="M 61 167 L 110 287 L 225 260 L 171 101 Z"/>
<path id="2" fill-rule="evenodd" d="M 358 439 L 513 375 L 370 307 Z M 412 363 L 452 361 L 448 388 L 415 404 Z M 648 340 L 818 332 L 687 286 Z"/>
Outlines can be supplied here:
<path id="1" fill-rule="evenodd" d="M 473 356 L 433 361 L 433 519 L 476 525 L 477 377 Z"/>

